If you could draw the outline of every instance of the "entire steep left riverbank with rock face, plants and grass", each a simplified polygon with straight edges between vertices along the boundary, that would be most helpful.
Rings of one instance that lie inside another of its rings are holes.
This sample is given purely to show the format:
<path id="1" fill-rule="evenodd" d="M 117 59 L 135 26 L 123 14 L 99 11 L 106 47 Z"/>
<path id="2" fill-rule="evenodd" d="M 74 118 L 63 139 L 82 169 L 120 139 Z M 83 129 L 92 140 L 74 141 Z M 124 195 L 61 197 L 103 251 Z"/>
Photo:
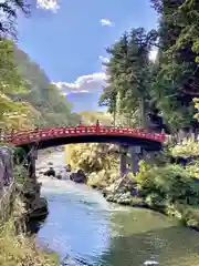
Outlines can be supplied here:
<path id="1" fill-rule="evenodd" d="M 0 265 L 57 266 L 53 252 L 34 244 L 39 221 L 48 214 L 46 201 L 40 194 L 41 184 L 28 177 L 23 164 L 13 167 L 12 160 L 11 147 L 0 147 Z M 33 218 L 38 221 L 35 232 L 30 225 Z"/>

